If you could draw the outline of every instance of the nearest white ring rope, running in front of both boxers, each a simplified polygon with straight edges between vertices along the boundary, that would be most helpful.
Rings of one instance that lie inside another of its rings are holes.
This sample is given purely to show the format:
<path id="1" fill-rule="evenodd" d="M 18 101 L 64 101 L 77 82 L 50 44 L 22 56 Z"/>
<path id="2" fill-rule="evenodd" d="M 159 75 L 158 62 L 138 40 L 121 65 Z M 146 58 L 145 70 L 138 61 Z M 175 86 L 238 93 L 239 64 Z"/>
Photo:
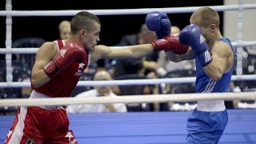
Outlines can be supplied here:
<path id="1" fill-rule="evenodd" d="M 206 94 L 152 94 L 124 95 L 117 98 L 9 98 L 0 106 L 66 106 L 70 104 L 131 103 L 131 102 L 194 102 L 198 100 L 255 100 L 256 92 L 206 93 Z"/>

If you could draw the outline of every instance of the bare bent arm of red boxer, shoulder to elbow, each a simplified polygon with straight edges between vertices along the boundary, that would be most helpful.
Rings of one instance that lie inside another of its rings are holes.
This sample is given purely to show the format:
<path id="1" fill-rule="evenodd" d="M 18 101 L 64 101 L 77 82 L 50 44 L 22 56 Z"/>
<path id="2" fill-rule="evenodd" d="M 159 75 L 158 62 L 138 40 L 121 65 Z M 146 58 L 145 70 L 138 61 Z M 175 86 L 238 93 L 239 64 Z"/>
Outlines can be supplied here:
<path id="1" fill-rule="evenodd" d="M 54 58 L 56 53 L 57 48 L 54 42 L 46 42 L 39 48 L 31 74 L 31 83 L 35 88 L 50 81 L 43 67 Z"/>

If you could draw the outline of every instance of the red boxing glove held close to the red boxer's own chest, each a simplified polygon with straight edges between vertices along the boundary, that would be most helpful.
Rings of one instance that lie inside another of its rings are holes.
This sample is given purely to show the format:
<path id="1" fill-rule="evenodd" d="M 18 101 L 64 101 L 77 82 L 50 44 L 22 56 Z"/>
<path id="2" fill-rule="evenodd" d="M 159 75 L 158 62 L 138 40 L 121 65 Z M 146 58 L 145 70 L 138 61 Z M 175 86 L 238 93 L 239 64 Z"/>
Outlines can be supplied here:
<path id="1" fill-rule="evenodd" d="M 79 42 L 71 41 L 58 51 L 54 60 L 50 61 L 44 70 L 46 74 L 53 78 L 58 75 L 62 70 L 66 70 L 68 66 L 74 61 L 78 63 L 84 62 L 86 59 L 86 50 Z"/>

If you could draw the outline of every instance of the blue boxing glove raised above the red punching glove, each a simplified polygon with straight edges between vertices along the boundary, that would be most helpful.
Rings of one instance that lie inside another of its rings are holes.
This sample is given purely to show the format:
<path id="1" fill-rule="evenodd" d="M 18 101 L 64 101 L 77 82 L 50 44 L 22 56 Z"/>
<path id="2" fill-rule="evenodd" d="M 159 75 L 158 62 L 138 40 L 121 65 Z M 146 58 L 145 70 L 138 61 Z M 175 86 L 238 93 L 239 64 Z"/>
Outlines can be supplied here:
<path id="1" fill-rule="evenodd" d="M 170 35 L 170 20 L 166 13 L 153 11 L 146 15 L 146 26 L 149 30 L 155 31 L 158 39 Z"/>

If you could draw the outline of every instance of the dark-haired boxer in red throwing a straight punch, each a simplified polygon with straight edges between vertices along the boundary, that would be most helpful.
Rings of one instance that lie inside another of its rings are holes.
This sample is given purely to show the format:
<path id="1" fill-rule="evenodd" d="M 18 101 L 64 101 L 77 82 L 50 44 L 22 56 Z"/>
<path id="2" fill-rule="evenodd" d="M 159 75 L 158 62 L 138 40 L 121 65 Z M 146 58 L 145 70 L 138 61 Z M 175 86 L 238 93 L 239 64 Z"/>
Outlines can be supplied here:
<path id="1" fill-rule="evenodd" d="M 167 36 L 150 44 L 113 49 L 98 45 L 101 23 L 89 12 L 71 20 L 65 40 L 44 43 L 38 50 L 31 74 L 30 98 L 69 97 L 82 71 L 100 58 L 139 58 L 156 50 L 187 50 L 177 37 Z M 78 143 L 62 106 L 21 106 L 5 143 Z"/>

